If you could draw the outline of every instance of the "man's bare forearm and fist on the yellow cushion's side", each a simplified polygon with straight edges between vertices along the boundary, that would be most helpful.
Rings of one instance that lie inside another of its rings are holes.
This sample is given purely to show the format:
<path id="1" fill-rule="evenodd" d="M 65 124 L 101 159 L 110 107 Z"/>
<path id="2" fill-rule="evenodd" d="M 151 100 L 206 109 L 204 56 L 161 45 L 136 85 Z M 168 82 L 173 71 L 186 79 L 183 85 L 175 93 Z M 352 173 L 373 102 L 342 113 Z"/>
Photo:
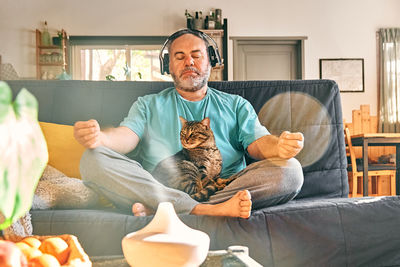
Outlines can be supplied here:
<path id="1" fill-rule="evenodd" d="M 126 154 L 137 146 L 139 136 L 125 126 L 100 130 L 96 120 L 78 121 L 74 124 L 74 137 L 86 148 L 105 146 Z"/>

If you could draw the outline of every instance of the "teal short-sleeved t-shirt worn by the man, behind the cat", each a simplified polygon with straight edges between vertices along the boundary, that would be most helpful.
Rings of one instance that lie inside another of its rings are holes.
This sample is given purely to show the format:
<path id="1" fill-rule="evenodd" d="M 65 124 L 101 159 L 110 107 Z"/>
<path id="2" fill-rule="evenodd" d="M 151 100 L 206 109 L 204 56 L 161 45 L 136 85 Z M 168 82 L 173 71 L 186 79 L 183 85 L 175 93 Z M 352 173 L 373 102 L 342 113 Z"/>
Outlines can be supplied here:
<path id="1" fill-rule="evenodd" d="M 207 89 L 200 101 L 188 101 L 175 88 L 139 97 L 121 122 L 140 138 L 138 155 L 143 167 L 152 171 L 158 162 L 182 149 L 181 122 L 210 118 L 211 129 L 222 155 L 221 177 L 229 177 L 246 167 L 247 146 L 269 134 L 252 105 L 243 97 Z"/>

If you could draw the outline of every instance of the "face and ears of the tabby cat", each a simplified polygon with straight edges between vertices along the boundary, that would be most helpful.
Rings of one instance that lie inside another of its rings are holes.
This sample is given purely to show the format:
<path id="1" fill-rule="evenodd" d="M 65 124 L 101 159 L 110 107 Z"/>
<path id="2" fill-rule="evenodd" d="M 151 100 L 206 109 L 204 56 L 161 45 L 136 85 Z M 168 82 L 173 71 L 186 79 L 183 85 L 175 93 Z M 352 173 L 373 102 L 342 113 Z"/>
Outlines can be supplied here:
<path id="1" fill-rule="evenodd" d="M 212 136 L 210 120 L 205 118 L 202 121 L 186 121 L 181 117 L 181 143 L 186 149 L 198 147 L 206 143 Z"/>

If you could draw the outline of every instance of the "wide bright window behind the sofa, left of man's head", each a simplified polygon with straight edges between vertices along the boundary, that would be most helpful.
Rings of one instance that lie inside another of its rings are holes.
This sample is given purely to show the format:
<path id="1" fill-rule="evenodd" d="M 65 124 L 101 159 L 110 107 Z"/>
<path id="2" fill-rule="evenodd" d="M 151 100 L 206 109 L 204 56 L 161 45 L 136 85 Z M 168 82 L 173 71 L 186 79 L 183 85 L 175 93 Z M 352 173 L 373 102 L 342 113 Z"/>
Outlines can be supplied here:
<path id="1" fill-rule="evenodd" d="M 172 81 L 158 59 L 166 37 L 70 37 L 77 80 Z M 156 44 L 154 44 L 156 43 Z"/>

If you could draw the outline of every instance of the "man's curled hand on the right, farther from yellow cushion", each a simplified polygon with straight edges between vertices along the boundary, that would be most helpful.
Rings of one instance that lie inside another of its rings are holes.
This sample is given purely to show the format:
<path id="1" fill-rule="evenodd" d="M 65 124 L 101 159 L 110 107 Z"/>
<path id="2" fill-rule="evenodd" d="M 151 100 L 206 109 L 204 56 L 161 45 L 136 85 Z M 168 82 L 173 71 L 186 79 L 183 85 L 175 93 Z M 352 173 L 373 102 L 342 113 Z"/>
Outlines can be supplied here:
<path id="1" fill-rule="evenodd" d="M 303 149 L 304 136 L 302 133 L 282 132 L 279 136 L 277 150 L 278 156 L 283 159 L 295 157 Z"/>

